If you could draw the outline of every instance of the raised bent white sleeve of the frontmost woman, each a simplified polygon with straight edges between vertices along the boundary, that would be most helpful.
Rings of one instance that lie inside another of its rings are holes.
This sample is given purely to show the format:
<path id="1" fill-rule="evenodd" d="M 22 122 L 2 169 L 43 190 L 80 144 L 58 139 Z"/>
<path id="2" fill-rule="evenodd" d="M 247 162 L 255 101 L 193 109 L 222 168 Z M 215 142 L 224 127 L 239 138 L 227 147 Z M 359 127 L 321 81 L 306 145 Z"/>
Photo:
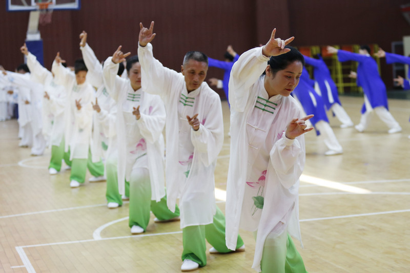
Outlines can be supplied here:
<path id="1" fill-rule="evenodd" d="M 229 79 L 229 103 L 235 111 L 244 111 L 249 89 L 268 66 L 268 60 L 260 47 L 243 53 L 233 65 Z"/>

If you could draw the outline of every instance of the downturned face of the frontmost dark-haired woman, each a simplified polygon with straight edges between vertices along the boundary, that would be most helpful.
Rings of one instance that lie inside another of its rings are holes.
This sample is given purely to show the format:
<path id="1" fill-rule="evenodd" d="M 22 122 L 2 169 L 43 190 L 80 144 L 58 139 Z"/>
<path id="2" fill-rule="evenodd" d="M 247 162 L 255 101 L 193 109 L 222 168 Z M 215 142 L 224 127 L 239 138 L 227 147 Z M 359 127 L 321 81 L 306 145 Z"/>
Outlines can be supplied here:
<path id="1" fill-rule="evenodd" d="M 265 69 L 266 76 L 264 87 L 269 97 L 282 95 L 288 97 L 299 83 L 302 74 L 303 65 L 300 61 L 294 61 L 285 69 L 279 70 L 275 74 L 271 72 L 271 67 Z"/>

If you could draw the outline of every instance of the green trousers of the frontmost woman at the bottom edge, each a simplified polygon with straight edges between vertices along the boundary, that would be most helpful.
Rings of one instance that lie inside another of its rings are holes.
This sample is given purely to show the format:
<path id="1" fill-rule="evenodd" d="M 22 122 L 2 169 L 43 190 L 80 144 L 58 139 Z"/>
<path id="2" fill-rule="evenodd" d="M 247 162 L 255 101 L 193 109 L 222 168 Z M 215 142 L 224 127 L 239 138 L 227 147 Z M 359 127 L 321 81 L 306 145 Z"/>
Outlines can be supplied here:
<path id="1" fill-rule="evenodd" d="M 307 273 L 302 257 L 287 232 L 279 236 L 268 235 L 260 267 L 262 273 Z"/>

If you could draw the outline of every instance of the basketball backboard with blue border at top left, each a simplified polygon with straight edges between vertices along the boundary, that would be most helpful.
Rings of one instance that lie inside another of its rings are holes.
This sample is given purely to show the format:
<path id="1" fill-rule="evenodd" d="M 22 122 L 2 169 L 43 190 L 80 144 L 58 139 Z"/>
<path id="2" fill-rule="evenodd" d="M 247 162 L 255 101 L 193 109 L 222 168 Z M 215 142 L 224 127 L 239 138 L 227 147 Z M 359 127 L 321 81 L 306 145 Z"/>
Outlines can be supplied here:
<path id="1" fill-rule="evenodd" d="M 80 0 L 6 0 L 7 11 L 35 11 L 39 9 L 37 3 L 51 2 L 51 10 L 79 10 Z"/>

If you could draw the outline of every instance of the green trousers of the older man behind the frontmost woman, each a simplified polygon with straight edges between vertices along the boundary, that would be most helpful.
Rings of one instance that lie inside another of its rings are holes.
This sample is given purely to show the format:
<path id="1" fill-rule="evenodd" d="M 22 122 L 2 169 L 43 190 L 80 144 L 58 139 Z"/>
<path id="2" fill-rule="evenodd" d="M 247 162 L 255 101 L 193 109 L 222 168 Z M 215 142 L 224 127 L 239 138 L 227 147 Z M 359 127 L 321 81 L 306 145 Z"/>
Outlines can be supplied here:
<path id="1" fill-rule="evenodd" d="M 197 262 L 199 266 L 207 264 L 207 240 L 220 253 L 231 252 L 225 242 L 225 216 L 216 207 L 216 214 L 212 224 L 187 226 L 182 229 L 182 261 L 189 259 Z M 238 236 L 236 248 L 243 245 L 242 238 Z"/>

